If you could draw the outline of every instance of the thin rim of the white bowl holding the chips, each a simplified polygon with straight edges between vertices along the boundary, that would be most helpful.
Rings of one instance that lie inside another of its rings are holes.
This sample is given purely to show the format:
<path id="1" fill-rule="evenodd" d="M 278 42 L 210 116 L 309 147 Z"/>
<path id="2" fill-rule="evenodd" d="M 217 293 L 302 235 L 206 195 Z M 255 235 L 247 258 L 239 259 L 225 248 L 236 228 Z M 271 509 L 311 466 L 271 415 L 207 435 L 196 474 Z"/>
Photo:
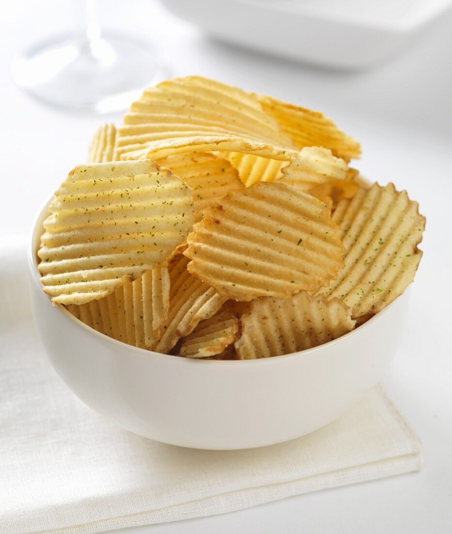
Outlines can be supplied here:
<path id="1" fill-rule="evenodd" d="M 44 216 L 44 210 L 49 206 L 51 199 L 53 198 L 53 194 L 51 193 L 46 197 L 42 205 L 37 210 L 37 213 L 33 217 L 33 222 L 31 223 L 31 229 L 28 235 L 28 243 L 27 243 L 27 257 L 28 257 L 28 266 L 31 272 L 31 276 L 33 278 L 33 281 L 35 284 L 37 284 L 38 288 L 42 290 L 43 295 L 45 295 L 43 291 L 43 287 L 41 284 L 41 280 L 39 279 L 39 271 L 38 271 L 38 262 L 37 262 L 37 251 L 34 247 L 34 241 L 36 237 L 36 231 L 37 231 L 37 225 L 39 221 Z M 174 362 L 179 363 L 181 365 L 213 365 L 213 366 L 224 366 L 224 365 L 237 365 L 237 366 L 244 366 L 244 365 L 275 365 L 278 361 L 286 361 L 291 360 L 294 358 L 301 358 L 303 356 L 312 355 L 315 352 L 321 352 L 322 350 L 325 350 L 327 348 L 333 347 L 334 345 L 340 345 L 341 343 L 347 342 L 351 337 L 358 335 L 357 333 L 363 333 L 366 328 L 369 328 L 370 325 L 375 323 L 376 320 L 379 320 L 380 317 L 382 317 L 387 311 L 393 306 L 395 302 L 400 299 L 400 297 L 403 297 L 404 294 L 407 293 L 409 290 L 409 286 L 405 289 L 405 292 L 403 292 L 401 295 L 395 297 L 395 299 L 388 304 L 383 310 L 376 313 L 373 317 L 368 319 L 366 323 L 354 328 L 351 332 L 347 332 L 343 336 L 337 337 L 337 339 L 328 341 L 327 343 L 323 343 L 321 345 L 318 345 L 317 347 L 312 347 L 311 349 L 304 349 L 300 350 L 298 352 L 290 352 L 290 354 L 282 354 L 280 356 L 275 356 L 273 358 L 257 358 L 257 359 L 250 359 L 250 360 L 208 360 L 204 358 L 180 358 L 177 356 L 173 356 L 172 354 L 162 354 L 161 352 L 154 352 L 152 350 L 148 349 L 142 349 L 140 347 L 133 347 L 133 345 L 129 345 L 128 343 L 124 343 L 123 341 L 118 341 L 114 339 L 113 337 L 109 337 L 105 334 L 102 334 L 101 332 L 98 332 L 96 329 L 91 328 L 88 325 L 85 325 L 82 321 L 78 320 L 75 316 L 72 315 L 68 310 L 66 310 L 61 305 L 56 305 L 55 308 L 58 308 L 59 311 L 61 311 L 66 317 L 66 320 L 73 321 L 73 324 L 76 326 L 76 328 L 80 328 L 82 331 L 85 331 L 88 335 L 91 335 L 96 339 L 102 341 L 102 343 L 111 344 L 112 349 L 120 348 L 122 351 L 130 352 L 127 356 L 133 356 L 133 357 L 139 357 L 139 358 L 149 358 L 149 355 L 151 355 L 153 358 L 158 358 L 161 360 L 166 360 L 167 362 Z M 47 295 L 45 295 L 47 297 Z M 47 297 L 46 299 L 51 306 L 53 306 L 52 301 L 50 300 L 50 297 Z M 190 363 L 189 363 L 190 362 Z"/>

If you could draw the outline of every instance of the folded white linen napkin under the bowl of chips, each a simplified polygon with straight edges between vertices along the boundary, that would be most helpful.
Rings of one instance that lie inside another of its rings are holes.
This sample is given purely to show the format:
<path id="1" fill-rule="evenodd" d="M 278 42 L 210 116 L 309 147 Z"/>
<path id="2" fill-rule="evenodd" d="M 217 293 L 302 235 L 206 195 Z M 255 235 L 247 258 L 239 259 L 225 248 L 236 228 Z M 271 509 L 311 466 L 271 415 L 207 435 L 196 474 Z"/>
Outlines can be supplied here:
<path id="1" fill-rule="evenodd" d="M 231 512 L 421 469 L 421 445 L 377 387 L 308 436 L 243 451 L 164 445 L 86 407 L 47 362 L 23 238 L 0 242 L 0 531 L 94 534 Z"/>

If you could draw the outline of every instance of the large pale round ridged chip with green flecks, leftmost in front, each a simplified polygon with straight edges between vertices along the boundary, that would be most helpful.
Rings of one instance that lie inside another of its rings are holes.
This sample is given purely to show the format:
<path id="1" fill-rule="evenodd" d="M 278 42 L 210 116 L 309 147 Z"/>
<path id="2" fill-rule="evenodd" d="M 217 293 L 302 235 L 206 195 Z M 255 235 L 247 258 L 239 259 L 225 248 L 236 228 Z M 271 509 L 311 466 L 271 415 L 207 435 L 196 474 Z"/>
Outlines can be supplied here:
<path id="1" fill-rule="evenodd" d="M 39 271 L 60 304 L 101 299 L 151 270 L 193 224 L 188 187 L 150 161 L 77 166 L 49 211 Z"/>

